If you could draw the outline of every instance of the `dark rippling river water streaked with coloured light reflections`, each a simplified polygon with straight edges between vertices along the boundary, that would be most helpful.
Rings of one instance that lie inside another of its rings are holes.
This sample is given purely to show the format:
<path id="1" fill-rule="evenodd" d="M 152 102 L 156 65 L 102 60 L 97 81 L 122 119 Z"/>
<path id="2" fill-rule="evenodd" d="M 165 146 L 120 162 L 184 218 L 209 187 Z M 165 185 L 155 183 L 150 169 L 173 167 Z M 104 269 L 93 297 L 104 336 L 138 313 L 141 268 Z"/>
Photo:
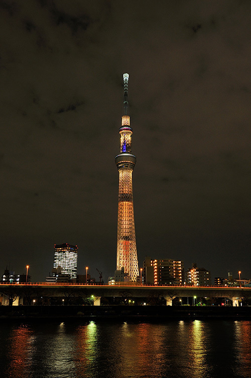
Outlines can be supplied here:
<path id="1" fill-rule="evenodd" d="M 250 321 L 2 323 L 0 377 L 251 378 Z"/>

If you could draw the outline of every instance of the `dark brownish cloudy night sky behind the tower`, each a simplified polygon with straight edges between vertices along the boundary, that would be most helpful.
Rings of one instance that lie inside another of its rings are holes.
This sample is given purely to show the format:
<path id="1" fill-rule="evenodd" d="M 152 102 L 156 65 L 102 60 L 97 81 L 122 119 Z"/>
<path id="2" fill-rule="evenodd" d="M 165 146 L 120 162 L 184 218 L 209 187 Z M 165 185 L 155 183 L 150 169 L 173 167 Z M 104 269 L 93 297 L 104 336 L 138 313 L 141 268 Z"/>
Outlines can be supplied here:
<path id="1" fill-rule="evenodd" d="M 139 266 L 251 278 L 251 2 L 0 0 L 0 275 L 116 268 L 128 72 Z"/>

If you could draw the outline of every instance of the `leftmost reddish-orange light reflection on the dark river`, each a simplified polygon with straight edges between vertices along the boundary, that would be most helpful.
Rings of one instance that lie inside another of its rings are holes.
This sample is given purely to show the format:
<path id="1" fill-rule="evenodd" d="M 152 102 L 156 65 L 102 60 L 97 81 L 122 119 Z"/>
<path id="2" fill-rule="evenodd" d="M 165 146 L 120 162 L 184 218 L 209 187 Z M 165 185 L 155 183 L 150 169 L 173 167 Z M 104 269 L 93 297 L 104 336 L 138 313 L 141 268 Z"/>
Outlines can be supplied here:
<path id="1" fill-rule="evenodd" d="M 7 374 L 10 377 L 24 378 L 29 366 L 30 342 L 32 332 L 26 326 L 15 328 L 10 336 L 11 344 L 8 353 L 9 367 Z"/>

